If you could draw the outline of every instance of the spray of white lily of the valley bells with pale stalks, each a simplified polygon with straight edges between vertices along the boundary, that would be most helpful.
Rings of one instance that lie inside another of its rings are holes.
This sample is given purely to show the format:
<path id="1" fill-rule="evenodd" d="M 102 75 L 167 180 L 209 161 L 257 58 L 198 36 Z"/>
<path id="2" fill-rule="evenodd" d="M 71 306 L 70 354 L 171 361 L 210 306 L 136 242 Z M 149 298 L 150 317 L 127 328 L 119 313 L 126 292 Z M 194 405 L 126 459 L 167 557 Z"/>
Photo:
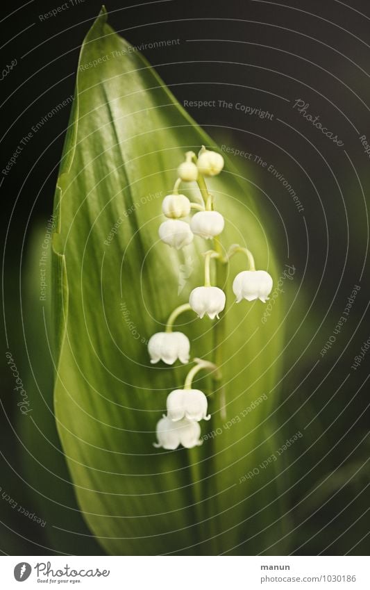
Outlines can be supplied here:
<path id="1" fill-rule="evenodd" d="M 183 248 L 199 236 L 204 240 L 212 240 L 212 248 L 203 253 L 204 284 L 196 286 L 190 293 L 189 302 L 178 306 L 170 314 L 164 332 L 153 334 L 149 340 L 148 350 L 151 363 L 163 361 L 172 365 L 176 360 L 188 363 L 190 359 L 190 341 L 185 334 L 173 331 L 174 322 L 185 311 L 195 311 L 199 318 L 208 316 L 211 320 L 219 319 L 224 311 L 226 295 L 224 291 L 212 286 L 210 280 L 211 261 L 227 264 L 231 256 L 237 252 L 246 255 L 248 269 L 239 272 L 233 281 L 233 292 L 236 302 L 242 299 L 253 301 L 259 299 L 263 303 L 269 299 L 272 289 L 272 278 L 265 270 L 255 270 L 255 262 L 250 250 L 237 244 L 228 249 L 221 247 L 219 235 L 224 229 L 224 217 L 215 210 L 215 202 L 208 192 L 204 177 L 219 174 L 224 167 L 224 158 L 215 151 L 205 149 L 199 151 L 198 158 L 193 151 L 187 151 L 185 161 L 178 167 L 178 179 L 171 195 L 162 202 L 162 212 L 167 220 L 158 230 L 160 239 L 170 247 Z M 182 182 L 196 181 L 201 192 L 203 204 L 190 202 L 190 199 L 178 191 Z M 190 221 L 192 210 L 196 211 Z M 223 254 L 226 252 L 226 254 Z M 178 445 L 192 448 L 201 444 L 200 420 L 209 420 L 208 400 L 199 389 L 192 388 L 192 380 L 200 370 L 210 370 L 220 379 L 219 368 L 209 361 L 193 359 L 194 366 L 185 377 L 183 389 L 171 391 L 167 398 L 167 415 L 157 424 L 158 443 L 155 447 L 174 450 Z"/>

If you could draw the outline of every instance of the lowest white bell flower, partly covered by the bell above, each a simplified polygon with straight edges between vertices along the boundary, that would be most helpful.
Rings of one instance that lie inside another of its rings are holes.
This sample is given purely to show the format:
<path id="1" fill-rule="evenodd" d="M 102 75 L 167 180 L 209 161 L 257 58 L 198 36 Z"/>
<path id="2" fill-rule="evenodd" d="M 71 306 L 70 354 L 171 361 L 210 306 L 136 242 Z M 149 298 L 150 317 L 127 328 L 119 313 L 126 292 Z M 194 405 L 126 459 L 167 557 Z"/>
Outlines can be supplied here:
<path id="1" fill-rule="evenodd" d="M 202 444 L 199 423 L 187 418 L 173 422 L 167 416 L 163 416 L 157 424 L 156 432 L 158 443 L 153 443 L 156 448 L 175 450 L 178 445 L 183 445 L 191 449 Z"/>

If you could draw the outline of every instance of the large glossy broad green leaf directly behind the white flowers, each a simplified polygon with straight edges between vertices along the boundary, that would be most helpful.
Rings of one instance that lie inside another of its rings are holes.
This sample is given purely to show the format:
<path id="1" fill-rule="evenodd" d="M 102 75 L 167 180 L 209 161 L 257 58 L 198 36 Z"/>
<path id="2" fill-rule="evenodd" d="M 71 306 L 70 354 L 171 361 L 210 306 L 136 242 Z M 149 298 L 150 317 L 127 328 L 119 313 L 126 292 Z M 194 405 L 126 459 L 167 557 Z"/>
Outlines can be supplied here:
<path id="1" fill-rule="evenodd" d="M 203 144 L 215 145 L 106 24 L 103 10 L 81 49 L 56 192 L 54 395 L 79 505 L 111 554 L 255 554 L 269 552 L 282 535 L 276 466 L 239 483 L 278 447 L 271 411 L 283 313 L 277 302 L 263 323 L 261 302 L 235 304 L 231 284 L 246 268 L 242 257 L 235 256 L 227 277 L 217 277 L 220 286 L 228 279 L 224 318 L 212 323 L 187 312 L 178 323 L 192 356 L 216 354 L 221 366 L 221 387 L 205 375 L 196 380 L 212 394 L 203 435 L 220 434 L 190 451 L 152 445 L 166 397 L 189 367 L 152 366 L 146 341 L 203 284 L 201 252 L 209 248 L 201 238 L 180 252 L 160 243 L 161 200 L 185 151 Z M 277 280 L 267 220 L 249 183 L 226 163 L 208 186 L 226 218 L 224 247 L 247 244 L 258 268 Z M 183 191 L 199 198 L 196 186 Z M 271 550 L 278 551 L 282 544 Z"/>

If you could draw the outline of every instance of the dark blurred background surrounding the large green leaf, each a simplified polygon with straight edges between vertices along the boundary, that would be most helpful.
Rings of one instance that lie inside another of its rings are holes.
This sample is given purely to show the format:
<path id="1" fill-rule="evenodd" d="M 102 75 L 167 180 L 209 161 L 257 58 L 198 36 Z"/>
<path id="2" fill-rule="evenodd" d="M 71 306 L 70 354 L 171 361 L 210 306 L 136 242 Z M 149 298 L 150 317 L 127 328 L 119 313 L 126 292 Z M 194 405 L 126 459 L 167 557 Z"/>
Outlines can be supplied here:
<path id="1" fill-rule="evenodd" d="M 0 23 L 2 171 L 22 145 L 16 163 L 0 175 L 6 326 L 0 550 L 10 555 L 101 552 L 93 539 L 83 536 L 89 532 L 78 513 L 53 428 L 42 316 L 33 318 L 33 295 L 27 288 L 33 236 L 40 227 L 45 233 L 52 212 L 70 102 L 52 117 L 47 113 L 73 95 L 81 43 L 101 8 L 92 0 L 74 0 L 56 16 L 40 17 L 62 4 L 11 3 L 3 8 Z M 229 148 L 235 166 L 247 164 L 251 186 L 267 215 L 264 222 L 272 238 L 276 236 L 281 266 L 296 268 L 287 286 L 292 308 L 287 313 L 285 381 L 277 407 L 280 424 L 288 421 L 287 436 L 304 430 L 306 452 L 303 456 L 300 445 L 286 459 L 291 467 L 284 482 L 289 500 L 287 551 L 366 555 L 370 352 L 352 366 L 370 337 L 370 159 L 360 139 L 367 136 L 370 143 L 369 2 L 169 0 L 126 6 L 112 0 L 106 8 L 110 25 L 142 47 L 180 104 L 188 101 L 196 122 Z M 158 40 L 178 42 L 151 49 Z M 12 69 L 7 67 L 11 64 Z M 298 100 L 305 105 L 301 113 L 294 107 Z M 214 102 L 198 108 L 189 101 Z M 253 108 L 270 116 L 249 114 L 256 112 Z M 333 136 L 323 135 L 304 115 L 318 116 Z M 33 131 L 43 117 L 44 124 Z M 233 155 L 237 149 L 251 156 L 246 160 Z M 287 185 L 303 209 L 298 210 Z M 360 289 L 335 334 L 355 286 Z M 40 322 L 39 338 L 32 322 Z M 330 337 L 333 342 L 321 354 Z M 7 350 L 24 382 L 31 375 L 28 391 L 37 389 L 29 354 L 44 357 L 40 411 L 46 413 L 49 430 L 37 443 L 29 438 L 26 416 L 15 403 Z M 46 525 L 24 516 L 11 500 L 47 520 Z M 74 521 L 81 536 L 70 539 L 62 527 L 56 529 L 57 513 L 66 523 Z"/>

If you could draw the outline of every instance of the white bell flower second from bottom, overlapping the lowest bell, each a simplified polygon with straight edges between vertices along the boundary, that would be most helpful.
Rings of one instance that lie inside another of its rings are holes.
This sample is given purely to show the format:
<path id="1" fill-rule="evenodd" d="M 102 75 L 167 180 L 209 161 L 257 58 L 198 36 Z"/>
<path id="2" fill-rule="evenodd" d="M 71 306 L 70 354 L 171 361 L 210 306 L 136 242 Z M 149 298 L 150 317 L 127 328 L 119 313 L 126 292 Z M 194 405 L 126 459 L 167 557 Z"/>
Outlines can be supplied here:
<path id="1" fill-rule="evenodd" d="M 199 389 L 175 389 L 167 398 L 167 416 L 174 422 L 189 420 L 209 420 L 208 402 L 203 391 Z"/>

